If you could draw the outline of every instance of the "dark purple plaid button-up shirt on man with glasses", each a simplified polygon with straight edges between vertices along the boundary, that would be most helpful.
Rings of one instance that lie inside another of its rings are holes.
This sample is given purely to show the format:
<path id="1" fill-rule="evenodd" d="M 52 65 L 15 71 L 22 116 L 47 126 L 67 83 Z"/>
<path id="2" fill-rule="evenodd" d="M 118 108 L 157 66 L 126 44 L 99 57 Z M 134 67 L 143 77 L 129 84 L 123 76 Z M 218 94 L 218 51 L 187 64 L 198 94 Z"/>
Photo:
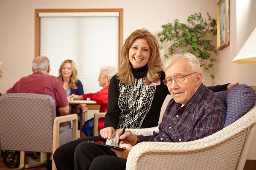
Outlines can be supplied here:
<path id="1" fill-rule="evenodd" d="M 226 111 L 224 103 L 202 84 L 183 107 L 171 99 L 159 132 L 139 135 L 137 142 L 187 142 L 204 138 L 222 128 Z"/>

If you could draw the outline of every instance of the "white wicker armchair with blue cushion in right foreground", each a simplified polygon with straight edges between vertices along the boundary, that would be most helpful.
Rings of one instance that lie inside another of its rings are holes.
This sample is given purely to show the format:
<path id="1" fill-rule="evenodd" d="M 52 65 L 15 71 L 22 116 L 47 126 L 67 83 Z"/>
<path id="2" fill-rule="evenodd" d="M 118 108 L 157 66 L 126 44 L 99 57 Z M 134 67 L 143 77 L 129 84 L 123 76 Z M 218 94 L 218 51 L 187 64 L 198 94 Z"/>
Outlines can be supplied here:
<path id="1" fill-rule="evenodd" d="M 243 170 L 256 131 L 255 91 L 239 85 L 215 95 L 227 105 L 222 130 L 191 142 L 138 143 L 128 155 L 126 170 Z M 127 130 L 151 135 L 158 128 Z"/>

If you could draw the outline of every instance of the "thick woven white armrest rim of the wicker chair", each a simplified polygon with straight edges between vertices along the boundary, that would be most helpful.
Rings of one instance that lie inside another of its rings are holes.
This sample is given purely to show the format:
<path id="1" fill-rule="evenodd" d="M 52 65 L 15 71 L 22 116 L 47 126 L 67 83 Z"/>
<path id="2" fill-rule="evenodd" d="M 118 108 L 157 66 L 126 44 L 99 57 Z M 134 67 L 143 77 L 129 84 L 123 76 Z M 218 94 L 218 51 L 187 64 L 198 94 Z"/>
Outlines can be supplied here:
<path id="1" fill-rule="evenodd" d="M 204 150 L 207 147 L 214 146 L 216 144 L 219 144 L 220 142 L 223 142 L 229 139 L 230 137 L 250 127 L 251 125 L 253 125 L 253 128 L 255 130 L 255 126 L 256 126 L 255 122 L 256 122 L 256 105 L 254 105 L 254 107 L 250 111 L 248 111 L 244 116 L 242 116 L 236 122 L 233 122 L 231 125 L 203 139 L 198 139 L 190 142 L 181 142 L 181 143 L 172 143 L 172 142 L 138 143 L 134 147 L 132 147 L 128 155 L 126 170 L 135 170 L 138 166 L 137 163 L 143 154 L 155 152 L 156 155 L 154 155 L 154 158 L 156 158 L 157 154 L 160 154 L 161 152 L 162 153 L 163 152 L 182 153 L 182 152 L 194 151 L 194 150 Z M 186 156 L 186 154 L 184 155 Z M 154 160 L 152 159 L 151 161 L 154 161 Z"/>

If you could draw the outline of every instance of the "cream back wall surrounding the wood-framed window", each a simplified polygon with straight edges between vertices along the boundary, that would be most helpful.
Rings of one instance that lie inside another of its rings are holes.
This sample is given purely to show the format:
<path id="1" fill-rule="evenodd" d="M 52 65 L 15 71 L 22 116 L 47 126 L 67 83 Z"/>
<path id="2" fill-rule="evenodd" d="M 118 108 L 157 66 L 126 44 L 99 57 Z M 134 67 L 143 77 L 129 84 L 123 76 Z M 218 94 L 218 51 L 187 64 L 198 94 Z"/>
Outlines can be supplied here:
<path id="1" fill-rule="evenodd" d="M 0 61 L 4 72 L 1 93 L 20 77 L 31 74 L 35 8 L 123 8 L 124 39 L 138 28 L 147 28 L 157 35 L 162 24 L 175 18 L 186 22 L 190 14 L 199 11 L 204 17 L 207 11 L 216 16 L 212 0 L 0 0 Z M 205 76 L 204 82 L 213 85 L 209 76 Z"/>

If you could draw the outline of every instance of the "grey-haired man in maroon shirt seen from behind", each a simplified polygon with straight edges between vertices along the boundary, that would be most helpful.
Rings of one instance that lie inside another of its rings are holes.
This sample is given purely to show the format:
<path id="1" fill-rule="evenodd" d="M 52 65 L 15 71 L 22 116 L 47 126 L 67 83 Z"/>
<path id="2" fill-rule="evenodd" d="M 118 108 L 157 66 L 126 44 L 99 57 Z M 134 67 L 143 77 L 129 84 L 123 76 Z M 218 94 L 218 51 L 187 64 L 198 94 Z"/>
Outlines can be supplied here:
<path id="1" fill-rule="evenodd" d="M 6 93 L 34 93 L 52 96 L 56 105 L 56 116 L 69 113 L 67 94 L 58 78 L 49 75 L 50 63 L 47 57 L 35 57 L 32 62 L 33 74 L 21 78 Z"/>

